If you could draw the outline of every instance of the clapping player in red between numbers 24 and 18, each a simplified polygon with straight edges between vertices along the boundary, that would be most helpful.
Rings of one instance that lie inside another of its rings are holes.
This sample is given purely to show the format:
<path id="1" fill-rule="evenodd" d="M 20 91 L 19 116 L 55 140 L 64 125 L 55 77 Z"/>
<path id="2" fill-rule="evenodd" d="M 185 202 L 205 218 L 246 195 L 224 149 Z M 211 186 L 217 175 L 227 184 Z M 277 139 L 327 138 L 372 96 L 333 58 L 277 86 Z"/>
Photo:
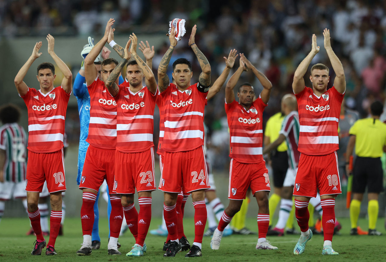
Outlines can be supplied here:
<path id="1" fill-rule="evenodd" d="M 234 87 L 243 71 L 251 69 L 261 82 L 263 90 L 254 100 L 254 89 L 249 83 L 239 86 L 235 100 Z M 257 226 L 259 240 L 256 249 L 277 249 L 266 240 L 269 224 L 268 170 L 262 157 L 262 113 L 271 95 L 272 84 L 264 74 L 259 72 L 244 54 L 240 54 L 240 66 L 229 79 L 225 87 L 225 112 L 230 130 L 230 171 L 229 171 L 229 205 L 225 208 L 218 227 L 213 232 L 210 247 L 219 249 L 224 228 L 232 217 L 239 212 L 242 201 L 249 187 L 259 205 Z"/>

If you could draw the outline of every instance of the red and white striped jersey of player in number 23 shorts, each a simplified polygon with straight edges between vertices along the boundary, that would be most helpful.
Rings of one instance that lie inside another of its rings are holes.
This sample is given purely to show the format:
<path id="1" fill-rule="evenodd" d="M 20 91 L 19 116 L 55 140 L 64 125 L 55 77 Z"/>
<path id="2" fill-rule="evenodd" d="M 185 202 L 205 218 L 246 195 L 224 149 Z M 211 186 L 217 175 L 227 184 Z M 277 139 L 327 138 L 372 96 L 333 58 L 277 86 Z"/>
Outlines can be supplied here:
<path id="1" fill-rule="evenodd" d="M 153 95 L 146 86 L 136 93 L 126 86 L 119 89 L 115 96 L 118 151 L 139 153 L 154 146 L 153 115 L 157 96 L 158 91 Z"/>

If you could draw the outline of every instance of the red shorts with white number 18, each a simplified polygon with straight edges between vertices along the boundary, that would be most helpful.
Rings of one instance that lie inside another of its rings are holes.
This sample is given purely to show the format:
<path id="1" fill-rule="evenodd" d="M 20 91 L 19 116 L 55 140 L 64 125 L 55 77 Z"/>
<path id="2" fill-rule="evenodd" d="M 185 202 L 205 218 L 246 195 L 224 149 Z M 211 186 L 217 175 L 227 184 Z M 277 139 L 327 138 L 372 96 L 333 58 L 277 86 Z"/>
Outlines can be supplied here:
<path id="1" fill-rule="evenodd" d="M 324 156 L 300 154 L 293 195 L 316 197 L 317 189 L 321 196 L 341 194 L 338 170 L 336 151 Z"/>

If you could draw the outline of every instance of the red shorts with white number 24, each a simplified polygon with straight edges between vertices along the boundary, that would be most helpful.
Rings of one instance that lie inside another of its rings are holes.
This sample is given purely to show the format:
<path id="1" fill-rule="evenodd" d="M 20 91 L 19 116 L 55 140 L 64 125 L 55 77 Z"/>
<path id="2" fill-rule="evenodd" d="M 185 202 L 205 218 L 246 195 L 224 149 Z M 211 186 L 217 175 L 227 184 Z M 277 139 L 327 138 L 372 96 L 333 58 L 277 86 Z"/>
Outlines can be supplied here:
<path id="1" fill-rule="evenodd" d="M 164 192 L 184 193 L 210 188 L 204 147 L 183 152 L 164 152 L 159 189 Z"/>

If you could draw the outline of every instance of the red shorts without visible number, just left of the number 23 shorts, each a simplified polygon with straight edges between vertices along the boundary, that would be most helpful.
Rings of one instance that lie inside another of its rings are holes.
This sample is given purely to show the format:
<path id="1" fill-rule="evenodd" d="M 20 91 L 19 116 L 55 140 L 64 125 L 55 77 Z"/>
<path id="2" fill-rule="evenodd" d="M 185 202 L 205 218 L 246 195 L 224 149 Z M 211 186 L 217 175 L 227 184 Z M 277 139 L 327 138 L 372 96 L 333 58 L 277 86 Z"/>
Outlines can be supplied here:
<path id="1" fill-rule="evenodd" d="M 114 188 L 115 150 L 88 146 L 79 188 L 99 191 L 103 181 L 107 181 L 110 195 Z"/>

